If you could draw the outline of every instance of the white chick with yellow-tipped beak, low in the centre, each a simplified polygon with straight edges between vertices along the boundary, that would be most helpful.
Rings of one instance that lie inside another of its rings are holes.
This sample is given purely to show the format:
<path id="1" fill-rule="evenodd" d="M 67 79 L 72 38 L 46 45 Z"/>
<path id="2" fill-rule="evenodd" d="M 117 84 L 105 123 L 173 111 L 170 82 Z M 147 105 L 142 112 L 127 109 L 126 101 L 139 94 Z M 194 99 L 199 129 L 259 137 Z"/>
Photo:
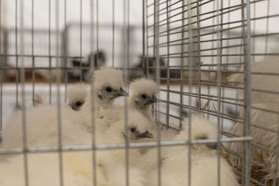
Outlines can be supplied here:
<path id="1" fill-rule="evenodd" d="M 126 139 L 129 143 L 136 143 L 140 139 L 153 139 L 153 134 L 151 134 L 147 128 L 150 125 L 149 121 L 139 112 L 128 111 L 128 121 L 127 121 L 127 134 L 125 130 L 125 120 L 122 118 L 117 121 L 111 127 L 107 128 L 104 133 L 107 144 L 125 144 Z M 126 150 L 117 149 L 112 150 L 116 155 L 116 159 L 121 164 L 125 164 L 126 161 Z M 129 149 L 129 162 L 131 166 L 144 166 L 140 163 L 140 149 L 130 148 Z"/>

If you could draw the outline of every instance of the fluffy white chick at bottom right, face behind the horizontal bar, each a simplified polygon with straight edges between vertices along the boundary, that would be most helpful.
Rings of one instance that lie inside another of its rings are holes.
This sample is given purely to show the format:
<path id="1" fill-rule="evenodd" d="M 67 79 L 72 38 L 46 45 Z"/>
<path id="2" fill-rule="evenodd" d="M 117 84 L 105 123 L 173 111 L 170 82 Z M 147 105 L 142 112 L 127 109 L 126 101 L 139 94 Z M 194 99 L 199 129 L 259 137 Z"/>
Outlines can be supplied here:
<path id="1" fill-rule="evenodd" d="M 184 128 L 174 139 L 188 140 L 188 120 L 184 121 Z M 201 116 L 192 116 L 191 139 L 217 139 L 216 125 Z M 218 185 L 218 151 L 217 144 L 195 144 L 191 146 L 191 185 Z M 164 186 L 188 185 L 188 146 L 172 146 L 167 150 L 163 160 L 161 184 Z M 149 174 L 147 185 L 157 184 L 157 169 Z M 232 167 L 220 157 L 220 185 L 239 185 Z"/>

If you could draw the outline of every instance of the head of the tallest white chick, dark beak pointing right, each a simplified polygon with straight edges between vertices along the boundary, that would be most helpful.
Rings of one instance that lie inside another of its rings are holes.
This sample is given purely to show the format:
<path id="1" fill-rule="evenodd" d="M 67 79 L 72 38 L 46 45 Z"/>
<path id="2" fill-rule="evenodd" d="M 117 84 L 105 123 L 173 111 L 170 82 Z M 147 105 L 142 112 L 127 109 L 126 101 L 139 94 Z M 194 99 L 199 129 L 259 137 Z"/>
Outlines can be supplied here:
<path id="1" fill-rule="evenodd" d="M 94 91 L 96 100 L 100 102 L 112 102 L 119 96 L 128 96 L 123 86 L 121 70 L 100 68 L 94 73 Z"/>

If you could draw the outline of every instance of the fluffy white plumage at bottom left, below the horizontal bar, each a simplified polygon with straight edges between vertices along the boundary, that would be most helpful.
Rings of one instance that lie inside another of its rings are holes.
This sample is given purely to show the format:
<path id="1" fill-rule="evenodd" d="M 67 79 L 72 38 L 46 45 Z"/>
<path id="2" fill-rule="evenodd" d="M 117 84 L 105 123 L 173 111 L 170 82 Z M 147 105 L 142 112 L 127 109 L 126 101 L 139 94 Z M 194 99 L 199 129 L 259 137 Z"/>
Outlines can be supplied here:
<path id="1" fill-rule="evenodd" d="M 68 186 L 91 186 L 93 184 L 93 158 L 91 151 L 63 153 L 63 183 Z M 24 162 L 22 155 L 0 157 L 0 185 L 24 186 Z M 126 184 L 126 167 L 116 162 L 107 150 L 96 151 L 96 183 L 103 186 Z M 28 155 L 29 185 L 59 186 L 58 153 Z M 144 171 L 129 169 L 129 183 L 144 185 Z"/>

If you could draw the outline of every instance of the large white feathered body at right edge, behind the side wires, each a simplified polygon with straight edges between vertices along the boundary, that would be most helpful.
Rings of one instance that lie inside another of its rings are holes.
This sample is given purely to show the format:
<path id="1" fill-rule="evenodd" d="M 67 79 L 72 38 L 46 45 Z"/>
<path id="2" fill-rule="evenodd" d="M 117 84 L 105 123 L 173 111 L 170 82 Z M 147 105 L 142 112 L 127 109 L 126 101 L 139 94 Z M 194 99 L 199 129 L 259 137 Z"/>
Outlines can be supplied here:
<path id="1" fill-rule="evenodd" d="M 274 51 L 277 52 L 277 51 Z M 251 65 L 251 72 L 267 72 L 267 73 L 279 73 L 279 58 L 278 56 L 266 56 L 262 61 L 253 63 Z M 229 81 L 243 82 L 243 75 L 233 75 Z M 239 85 L 240 86 L 240 85 Z M 251 75 L 251 88 L 263 91 L 279 91 L 279 78 L 276 75 Z M 243 91 L 239 91 L 240 95 L 243 95 Z M 251 92 L 251 107 L 257 107 L 259 109 L 266 109 L 269 111 L 279 111 L 279 95 L 274 93 L 265 93 L 261 91 Z M 243 96 L 242 96 L 243 98 Z M 271 112 L 251 109 L 251 124 L 259 127 L 266 127 L 268 129 L 278 130 L 278 114 L 272 114 Z M 244 117 L 243 108 L 240 109 L 241 118 Z M 275 149 L 277 145 L 277 137 L 274 132 L 268 130 L 259 129 L 259 127 L 251 127 L 252 142 L 262 146 L 266 146 L 271 149 Z M 236 123 L 232 129 L 232 133 L 237 136 L 243 135 L 243 124 Z M 236 153 L 243 153 L 243 144 L 232 143 L 229 148 Z M 273 161 L 273 154 L 266 153 L 265 150 L 259 149 L 255 146 L 252 147 L 251 158 L 256 160 L 257 152 L 263 153 L 263 158 L 267 166 L 275 164 Z M 268 155 L 269 154 L 269 155 Z M 241 159 L 234 155 L 230 155 L 230 162 L 234 166 L 241 166 Z M 270 173 L 273 175 L 273 173 Z M 266 176 L 265 180 L 270 176 Z M 279 171 L 278 171 L 279 178 Z"/>

